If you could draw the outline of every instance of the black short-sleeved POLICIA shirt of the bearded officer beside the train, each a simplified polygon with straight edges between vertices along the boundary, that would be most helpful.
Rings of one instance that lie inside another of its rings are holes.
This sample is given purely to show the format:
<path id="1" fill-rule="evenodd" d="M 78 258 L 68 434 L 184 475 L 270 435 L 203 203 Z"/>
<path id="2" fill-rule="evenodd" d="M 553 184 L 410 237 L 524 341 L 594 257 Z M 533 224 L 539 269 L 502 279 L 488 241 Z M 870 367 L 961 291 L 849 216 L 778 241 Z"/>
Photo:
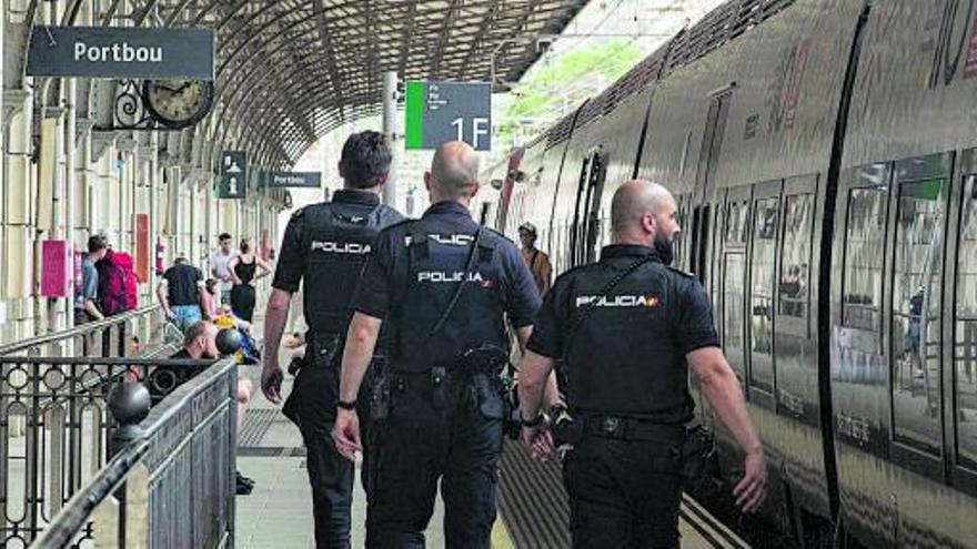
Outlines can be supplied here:
<path id="1" fill-rule="evenodd" d="M 600 295 L 642 260 L 648 261 Z M 585 317 L 576 322 L 582 309 Z M 663 265 L 651 247 L 620 244 L 556 278 L 527 345 L 565 358 L 571 407 L 666 424 L 692 418 L 685 355 L 709 346 L 718 346 L 718 337 L 698 282 Z"/>

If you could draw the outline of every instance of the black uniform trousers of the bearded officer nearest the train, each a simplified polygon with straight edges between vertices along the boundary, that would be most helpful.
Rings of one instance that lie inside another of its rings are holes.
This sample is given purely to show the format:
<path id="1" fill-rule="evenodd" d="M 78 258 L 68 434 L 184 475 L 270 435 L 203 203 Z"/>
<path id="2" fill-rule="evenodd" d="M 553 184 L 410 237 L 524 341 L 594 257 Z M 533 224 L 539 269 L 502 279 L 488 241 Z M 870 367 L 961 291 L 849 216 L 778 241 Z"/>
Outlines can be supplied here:
<path id="1" fill-rule="evenodd" d="M 577 549 L 678 547 L 678 443 L 586 436 L 563 464 Z"/>

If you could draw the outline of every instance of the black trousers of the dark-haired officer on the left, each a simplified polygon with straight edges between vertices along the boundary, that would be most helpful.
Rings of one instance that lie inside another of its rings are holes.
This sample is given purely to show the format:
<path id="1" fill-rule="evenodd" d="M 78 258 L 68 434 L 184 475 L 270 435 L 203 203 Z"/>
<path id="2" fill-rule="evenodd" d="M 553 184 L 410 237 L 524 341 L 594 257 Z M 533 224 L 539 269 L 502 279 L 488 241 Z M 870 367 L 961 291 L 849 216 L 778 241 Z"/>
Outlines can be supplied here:
<path id="1" fill-rule="evenodd" d="M 309 349 L 312 352 L 312 348 Z M 286 415 L 298 419 L 306 451 L 309 484 L 312 487 L 312 515 L 315 521 L 315 547 L 349 549 L 352 523 L 353 476 L 355 466 L 340 455 L 330 433 L 335 423 L 339 395 L 339 368 L 321 357 L 305 364 L 295 377 Z M 369 394 L 369 388 L 365 389 Z M 365 403 L 366 399 L 360 399 Z M 369 470 L 370 414 L 365 406 L 357 410 L 363 439 L 363 471 Z M 361 472 L 364 489 L 369 489 Z"/>

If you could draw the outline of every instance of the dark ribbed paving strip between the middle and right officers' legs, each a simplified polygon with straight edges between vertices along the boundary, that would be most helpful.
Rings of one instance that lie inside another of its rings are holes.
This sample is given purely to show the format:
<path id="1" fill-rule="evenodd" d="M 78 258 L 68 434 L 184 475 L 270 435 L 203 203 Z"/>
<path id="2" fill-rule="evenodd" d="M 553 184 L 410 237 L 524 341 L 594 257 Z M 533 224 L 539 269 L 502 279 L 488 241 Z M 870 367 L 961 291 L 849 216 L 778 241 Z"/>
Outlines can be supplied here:
<path id="1" fill-rule="evenodd" d="M 570 504 L 558 461 L 534 461 L 516 440 L 503 445 L 500 509 L 515 547 L 571 546 Z"/>

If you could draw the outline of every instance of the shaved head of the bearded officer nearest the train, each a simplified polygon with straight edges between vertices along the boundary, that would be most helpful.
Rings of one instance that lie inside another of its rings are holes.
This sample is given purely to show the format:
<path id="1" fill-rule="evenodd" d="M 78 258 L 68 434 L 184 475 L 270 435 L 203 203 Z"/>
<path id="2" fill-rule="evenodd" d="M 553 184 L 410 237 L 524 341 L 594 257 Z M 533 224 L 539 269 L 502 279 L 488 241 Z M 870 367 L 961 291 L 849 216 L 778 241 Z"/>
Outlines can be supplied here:
<path id="1" fill-rule="evenodd" d="M 675 214 L 675 197 L 667 189 L 649 181 L 631 180 L 617 189 L 611 201 L 611 231 L 623 243 L 649 245 L 656 234 L 671 242 L 678 234 Z"/>

